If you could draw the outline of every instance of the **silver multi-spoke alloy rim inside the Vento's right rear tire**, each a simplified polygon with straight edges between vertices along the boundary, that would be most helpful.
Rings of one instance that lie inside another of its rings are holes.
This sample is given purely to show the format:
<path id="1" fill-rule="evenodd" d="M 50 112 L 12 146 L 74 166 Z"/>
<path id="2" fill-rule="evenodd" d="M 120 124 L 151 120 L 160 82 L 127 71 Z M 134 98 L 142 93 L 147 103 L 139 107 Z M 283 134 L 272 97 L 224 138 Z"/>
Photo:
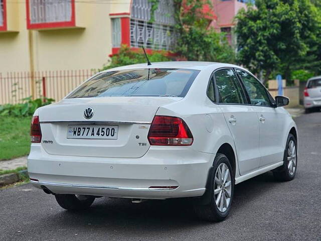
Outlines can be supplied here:
<path id="1" fill-rule="evenodd" d="M 231 174 L 228 166 L 221 163 L 216 169 L 214 180 L 214 198 L 220 212 L 225 212 L 230 205 L 232 195 Z"/>

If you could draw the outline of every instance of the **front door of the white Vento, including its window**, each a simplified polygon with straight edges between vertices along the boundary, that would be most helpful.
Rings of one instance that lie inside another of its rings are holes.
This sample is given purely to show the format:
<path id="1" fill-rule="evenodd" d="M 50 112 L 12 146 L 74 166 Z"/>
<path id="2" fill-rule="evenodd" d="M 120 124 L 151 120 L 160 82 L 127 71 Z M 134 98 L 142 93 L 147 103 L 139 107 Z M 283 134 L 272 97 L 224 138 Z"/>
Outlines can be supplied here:
<path id="1" fill-rule="evenodd" d="M 273 98 L 267 89 L 253 75 L 236 69 L 253 108 L 257 112 L 260 129 L 260 167 L 268 166 L 283 160 L 283 133 L 285 113 L 273 106 Z"/>

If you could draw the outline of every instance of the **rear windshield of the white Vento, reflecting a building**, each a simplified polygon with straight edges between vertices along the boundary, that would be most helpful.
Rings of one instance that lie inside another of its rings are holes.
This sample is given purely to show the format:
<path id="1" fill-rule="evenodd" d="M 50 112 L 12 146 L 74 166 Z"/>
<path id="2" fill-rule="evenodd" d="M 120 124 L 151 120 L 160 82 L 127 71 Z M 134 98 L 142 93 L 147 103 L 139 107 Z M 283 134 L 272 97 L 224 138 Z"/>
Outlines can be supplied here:
<path id="1" fill-rule="evenodd" d="M 129 69 L 102 72 L 67 98 L 112 96 L 184 97 L 200 71 L 192 69 Z"/>

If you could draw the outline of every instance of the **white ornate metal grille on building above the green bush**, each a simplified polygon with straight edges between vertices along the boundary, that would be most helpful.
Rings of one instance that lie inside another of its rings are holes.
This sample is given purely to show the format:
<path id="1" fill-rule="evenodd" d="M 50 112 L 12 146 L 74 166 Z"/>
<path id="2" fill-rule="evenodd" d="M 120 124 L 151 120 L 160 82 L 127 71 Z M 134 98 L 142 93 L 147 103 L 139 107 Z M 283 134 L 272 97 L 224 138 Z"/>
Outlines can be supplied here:
<path id="1" fill-rule="evenodd" d="M 174 50 L 177 33 L 174 29 L 175 9 L 173 0 L 161 0 L 150 22 L 151 3 L 132 0 L 130 19 L 130 45 L 151 49 Z"/>

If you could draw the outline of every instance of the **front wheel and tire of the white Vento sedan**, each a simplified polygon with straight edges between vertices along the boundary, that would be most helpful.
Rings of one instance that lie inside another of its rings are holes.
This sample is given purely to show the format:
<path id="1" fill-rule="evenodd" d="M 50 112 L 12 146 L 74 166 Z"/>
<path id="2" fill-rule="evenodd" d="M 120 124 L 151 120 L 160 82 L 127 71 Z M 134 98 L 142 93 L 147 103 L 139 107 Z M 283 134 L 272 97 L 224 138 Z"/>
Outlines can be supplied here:
<path id="1" fill-rule="evenodd" d="M 295 177 L 296 169 L 297 144 L 295 137 L 292 134 L 289 134 L 286 141 L 286 150 L 283 156 L 283 165 L 273 171 L 273 176 L 278 181 L 291 181 Z"/>

